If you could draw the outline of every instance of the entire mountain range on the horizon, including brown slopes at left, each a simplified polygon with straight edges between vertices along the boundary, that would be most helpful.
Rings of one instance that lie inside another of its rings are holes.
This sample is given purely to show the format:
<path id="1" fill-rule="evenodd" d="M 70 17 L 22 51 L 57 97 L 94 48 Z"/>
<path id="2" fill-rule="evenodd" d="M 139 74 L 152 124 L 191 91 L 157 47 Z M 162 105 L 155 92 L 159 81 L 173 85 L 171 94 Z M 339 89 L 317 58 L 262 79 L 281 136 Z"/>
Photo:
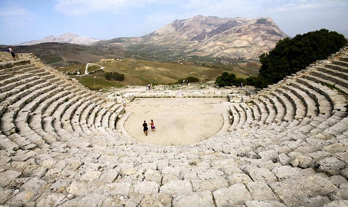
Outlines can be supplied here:
<path id="1" fill-rule="evenodd" d="M 47 62 L 62 59 L 55 57 L 79 63 L 106 57 L 169 62 L 230 62 L 239 58 L 257 58 L 286 37 L 273 19 L 268 17 L 195 16 L 177 19 L 142 37 L 96 40 L 66 33 L 24 42 L 15 50 L 32 52 L 49 60 Z"/>

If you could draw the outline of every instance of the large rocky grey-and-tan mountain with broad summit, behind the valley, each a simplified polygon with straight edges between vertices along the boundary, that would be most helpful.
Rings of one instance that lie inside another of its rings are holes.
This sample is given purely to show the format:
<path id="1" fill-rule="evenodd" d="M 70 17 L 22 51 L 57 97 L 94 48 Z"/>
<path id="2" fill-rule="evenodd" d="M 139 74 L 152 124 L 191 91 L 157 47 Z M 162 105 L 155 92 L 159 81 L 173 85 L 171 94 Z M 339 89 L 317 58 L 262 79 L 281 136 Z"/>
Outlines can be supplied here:
<path id="1" fill-rule="evenodd" d="M 182 55 L 253 58 L 288 37 L 271 18 L 195 16 L 139 38 L 116 38 L 92 45 L 118 47 L 160 57 Z"/>

